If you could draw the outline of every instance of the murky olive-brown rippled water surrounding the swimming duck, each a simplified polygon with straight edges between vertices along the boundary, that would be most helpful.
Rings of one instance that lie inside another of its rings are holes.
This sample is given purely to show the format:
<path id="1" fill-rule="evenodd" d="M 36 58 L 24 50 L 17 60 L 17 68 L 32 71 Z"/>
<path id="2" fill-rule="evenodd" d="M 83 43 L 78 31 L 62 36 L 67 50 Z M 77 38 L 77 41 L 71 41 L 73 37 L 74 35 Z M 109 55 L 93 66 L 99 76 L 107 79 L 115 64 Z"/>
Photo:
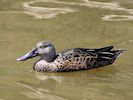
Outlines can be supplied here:
<path id="1" fill-rule="evenodd" d="M 0 100 L 132 100 L 132 4 L 132 0 L 1 0 Z M 40 40 L 51 41 L 58 51 L 107 45 L 126 51 L 103 68 L 38 73 L 32 70 L 37 58 L 25 62 L 16 58 Z"/>

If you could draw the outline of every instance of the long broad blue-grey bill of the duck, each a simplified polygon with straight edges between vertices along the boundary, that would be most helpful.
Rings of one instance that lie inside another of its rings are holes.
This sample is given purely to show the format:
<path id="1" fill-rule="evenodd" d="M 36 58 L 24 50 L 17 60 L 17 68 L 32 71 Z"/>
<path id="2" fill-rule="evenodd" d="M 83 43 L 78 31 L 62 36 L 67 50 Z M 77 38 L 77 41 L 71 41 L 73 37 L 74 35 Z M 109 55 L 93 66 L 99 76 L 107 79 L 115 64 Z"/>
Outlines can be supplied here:
<path id="1" fill-rule="evenodd" d="M 25 61 L 29 58 L 33 58 L 35 56 L 37 56 L 38 54 L 36 53 L 36 48 L 32 49 L 31 51 L 29 51 L 28 53 L 26 53 L 25 55 L 23 55 L 20 58 L 17 58 L 17 61 Z"/>

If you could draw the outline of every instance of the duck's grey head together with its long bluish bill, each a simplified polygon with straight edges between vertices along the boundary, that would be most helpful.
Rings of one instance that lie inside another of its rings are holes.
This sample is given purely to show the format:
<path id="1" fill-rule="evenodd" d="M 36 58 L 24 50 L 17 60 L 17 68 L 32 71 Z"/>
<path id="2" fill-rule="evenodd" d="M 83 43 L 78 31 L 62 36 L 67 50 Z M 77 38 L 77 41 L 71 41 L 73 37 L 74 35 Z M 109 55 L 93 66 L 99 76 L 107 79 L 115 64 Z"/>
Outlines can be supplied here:
<path id="1" fill-rule="evenodd" d="M 22 57 L 17 58 L 17 61 L 25 61 L 36 56 L 40 56 L 42 60 L 51 62 L 56 56 L 56 50 L 52 43 L 48 41 L 40 41 L 31 51 L 29 51 Z"/>

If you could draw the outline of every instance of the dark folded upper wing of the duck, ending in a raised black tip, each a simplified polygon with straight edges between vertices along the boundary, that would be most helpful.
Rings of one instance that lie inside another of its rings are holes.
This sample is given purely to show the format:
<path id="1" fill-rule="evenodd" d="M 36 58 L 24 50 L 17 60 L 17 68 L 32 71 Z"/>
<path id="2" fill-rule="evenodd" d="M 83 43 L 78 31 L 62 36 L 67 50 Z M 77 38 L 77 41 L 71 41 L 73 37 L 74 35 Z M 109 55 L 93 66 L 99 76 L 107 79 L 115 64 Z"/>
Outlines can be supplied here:
<path id="1" fill-rule="evenodd" d="M 75 58 L 97 58 L 99 52 L 109 52 L 113 46 L 108 46 L 99 49 L 88 49 L 88 48 L 74 48 L 74 49 L 67 49 L 58 53 L 57 59 L 62 61 L 75 59 Z"/>

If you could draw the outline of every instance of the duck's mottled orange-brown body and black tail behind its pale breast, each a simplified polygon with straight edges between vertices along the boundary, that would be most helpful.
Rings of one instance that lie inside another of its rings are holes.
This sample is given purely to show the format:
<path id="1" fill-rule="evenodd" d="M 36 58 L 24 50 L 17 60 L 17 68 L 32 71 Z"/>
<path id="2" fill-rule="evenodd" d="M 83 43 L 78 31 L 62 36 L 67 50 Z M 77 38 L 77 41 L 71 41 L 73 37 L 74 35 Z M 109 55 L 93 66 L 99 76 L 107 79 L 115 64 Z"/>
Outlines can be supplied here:
<path id="1" fill-rule="evenodd" d="M 59 53 L 56 71 L 92 69 L 112 64 L 123 50 L 111 50 L 113 46 L 100 49 L 74 48 Z"/>

